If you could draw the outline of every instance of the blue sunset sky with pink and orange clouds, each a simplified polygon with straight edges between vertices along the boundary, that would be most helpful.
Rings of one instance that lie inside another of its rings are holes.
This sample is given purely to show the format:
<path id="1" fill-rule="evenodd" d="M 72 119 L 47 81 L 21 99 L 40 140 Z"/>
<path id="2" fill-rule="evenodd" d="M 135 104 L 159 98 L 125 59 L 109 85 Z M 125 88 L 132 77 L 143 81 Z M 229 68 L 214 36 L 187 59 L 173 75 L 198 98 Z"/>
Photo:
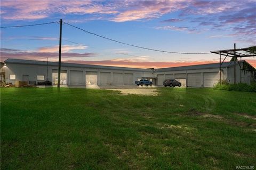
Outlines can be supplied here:
<path id="1" fill-rule="evenodd" d="M 1 26 L 63 20 L 62 62 L 163 68 L 219 62 L 207 53 L 256 45 L 252 1 L 2 1 Z M 68 25 L 69 23 L 70 25 Z M 7 58 L 58 61 L 59 23 L 1 28 L 1 62 Z M 227 59 L 229 61 L 230 58 Z M 246 58 L 256 67 L 256 58 Z"/>

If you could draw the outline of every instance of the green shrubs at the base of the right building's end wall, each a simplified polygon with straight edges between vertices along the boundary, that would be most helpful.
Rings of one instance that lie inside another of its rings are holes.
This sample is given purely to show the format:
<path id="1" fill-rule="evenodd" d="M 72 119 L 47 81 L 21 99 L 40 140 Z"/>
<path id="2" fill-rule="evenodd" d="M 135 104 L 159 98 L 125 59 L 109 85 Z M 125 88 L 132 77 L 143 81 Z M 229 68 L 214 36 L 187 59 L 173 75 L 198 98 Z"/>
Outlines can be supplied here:
<path id="1" fill-rule="evenodd" d="M 229 84 L 226 80 L 222 80 L 213 86 L 215 90 L 241 91 L 241 92 L 256 92 L 256 83 L 251 85 L 246 83 Z"/>

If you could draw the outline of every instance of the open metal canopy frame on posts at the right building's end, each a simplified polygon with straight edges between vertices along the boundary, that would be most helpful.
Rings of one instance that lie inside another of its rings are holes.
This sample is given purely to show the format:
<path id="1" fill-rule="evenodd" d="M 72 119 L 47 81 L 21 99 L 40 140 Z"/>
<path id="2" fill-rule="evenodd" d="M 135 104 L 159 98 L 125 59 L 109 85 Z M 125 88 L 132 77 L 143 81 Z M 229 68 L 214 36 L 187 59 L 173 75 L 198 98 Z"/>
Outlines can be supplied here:
<path id="1" fill-rule="evenodd" d="M 236 64 L 236 61 L 239 64 L 239 67 L 240 67 L 240 83 L 241 83 L 241 80 L 242 80 L 242 58 L 243 57 L 256 56 L 256 53 L 251 52 L 249 50 L 249 47 L 247 47 L 247 48 L 237 48 L 236 49 L 236 43 L 234 44 L 234 49 L 211 51 L 211 53 L 220 54 L 220 83 L 222 83 L 221 82 L 221 71 L 222 71 L 221 66 L 222 66 L 222 63 L 226 60 L 227 56 L 233 58 L 234 64 Z M 222 55 L 225 56 L 223 61 L 221 59 Z M 237 58 L 240 58 L 240 62 L 238 61 Z M 236 67 L 235 66 L 234 66 L 234 84 L 236 83 Z"/>

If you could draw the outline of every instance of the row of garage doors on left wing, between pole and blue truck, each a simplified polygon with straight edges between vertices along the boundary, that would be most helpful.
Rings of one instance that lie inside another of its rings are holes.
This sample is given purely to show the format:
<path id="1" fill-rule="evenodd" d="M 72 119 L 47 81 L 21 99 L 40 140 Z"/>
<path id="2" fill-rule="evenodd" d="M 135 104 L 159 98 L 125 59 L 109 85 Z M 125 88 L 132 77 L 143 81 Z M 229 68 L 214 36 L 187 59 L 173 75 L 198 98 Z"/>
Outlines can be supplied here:
<path id="1" fill-rule="evenodd" d="M 83 71 L 70 70 L 70 85 L 83 85 Z M 133 85 L 133 74 L 113 72 L 113 82 L 111 81 L 110 72 L 99 73 L 97 71 L 86 71 L 86 85 Z"/>

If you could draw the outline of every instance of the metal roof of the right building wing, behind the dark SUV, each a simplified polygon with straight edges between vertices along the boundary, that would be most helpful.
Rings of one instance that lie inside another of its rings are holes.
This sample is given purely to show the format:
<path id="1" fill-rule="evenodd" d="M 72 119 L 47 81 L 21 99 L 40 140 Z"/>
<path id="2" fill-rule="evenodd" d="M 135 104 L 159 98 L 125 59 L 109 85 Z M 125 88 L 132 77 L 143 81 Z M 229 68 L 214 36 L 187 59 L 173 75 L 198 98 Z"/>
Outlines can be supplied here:
<path id="1" fill-rule="evenodd" d="M 242 60 L 244 61 L 244 60 Z M 237 64 L 238 62 L 236 62 Z M 223 67 L 231 67 L 234 65 L 234 62 L 223 62 Z M 220 63 L 211 63 L 211 64 L 198 64 L 193 66 L 180 66 L 180 67 L 169 67 L 169 68 L 161 68 L 156 69 L 156 72 L 163 72 L 163 71 L 180 71 L 180 70 L 196 70 L 196 69 L 210 69 L 210 68 L 220 68 Z"/>

